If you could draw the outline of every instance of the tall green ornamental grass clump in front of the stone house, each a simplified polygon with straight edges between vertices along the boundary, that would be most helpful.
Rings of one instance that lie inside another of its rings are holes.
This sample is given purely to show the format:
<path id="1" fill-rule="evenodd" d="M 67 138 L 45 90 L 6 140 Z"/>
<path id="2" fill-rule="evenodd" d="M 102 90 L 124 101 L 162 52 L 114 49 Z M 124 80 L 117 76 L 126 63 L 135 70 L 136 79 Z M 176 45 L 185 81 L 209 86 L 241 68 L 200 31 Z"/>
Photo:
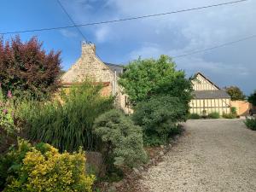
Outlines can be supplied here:
<path id="1" fill-rule="evenodd" d="M 23 102 L 19 115 L 26 119 L 28 137 L 32 141 L 50 143 L 61 151 L 75 151 L 80 146 L 93 149 L 94 120 L 113 108 L 112 97 L 102 97 L 102 84 L 85 81 L 61 93 L 61 101 Z"/>

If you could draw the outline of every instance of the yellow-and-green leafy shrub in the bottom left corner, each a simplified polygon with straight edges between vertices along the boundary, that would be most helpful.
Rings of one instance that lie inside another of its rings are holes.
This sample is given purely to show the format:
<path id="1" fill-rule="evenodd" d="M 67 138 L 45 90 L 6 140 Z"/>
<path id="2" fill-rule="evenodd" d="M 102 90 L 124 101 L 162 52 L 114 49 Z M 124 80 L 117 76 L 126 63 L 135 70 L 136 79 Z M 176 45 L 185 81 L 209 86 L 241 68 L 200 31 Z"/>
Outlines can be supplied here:
<path id="1" fill-rule="evenodd" d="M 4 192 L 89 192 L 95 180 L 94 176 L 85 173 L 85 154 L 82 150 L 60 154 L 49 144 L 39 143 L 32 147 L 21 140 L 18 148 L 10 150 L 3 159 L 1 171 L 7 173 Z"/>

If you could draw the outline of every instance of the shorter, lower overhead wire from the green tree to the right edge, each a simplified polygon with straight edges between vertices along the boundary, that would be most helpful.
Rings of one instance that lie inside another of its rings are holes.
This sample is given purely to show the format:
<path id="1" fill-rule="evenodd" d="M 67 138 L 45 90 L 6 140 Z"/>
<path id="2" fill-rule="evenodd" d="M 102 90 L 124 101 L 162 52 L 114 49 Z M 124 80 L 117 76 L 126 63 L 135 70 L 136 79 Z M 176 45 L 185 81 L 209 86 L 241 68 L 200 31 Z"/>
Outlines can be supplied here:
<path id="1" fill-rule="evenodd" d="M 176 55 L 176 56 L 172 56 L 172 58 L 180 58 L 180 57 L 185 57 L 185 56 L 188 56 L 188 55 L 194 55 L 194 54 L 198 54 L 198 53 L 202 53 L 202 52 L 206 52 L 206 51 L 209 51 L 209 50 L 212 50 L 212 49 L 218 49 L 218 48 L 221 48 L 221 47 L 224 47 L 224 46 L 228 46 L 230 44 L 236 44 L 236 43 L 239 43 L 241 41 L 246 41 L 248 39 L 251 39 L 251 38 L 256 38 L 256 35 L 252 35 L 252 36 L 248 36 L 246 38 L 240 38 L 236 41 L 231 41 L 231 42 L 228 42 L 228 43 L 225 43 L 225 44 L 218 44 L 216 46 L 213 46 L 211 48 L 207 48 L 207 49 L 198 49 L 198 50 L 195 50 L 195 51 L 191 51 L 191 52 L 188 52 L 188 53 L 185 53 L 185 54 L 182 54 L 182 55 Z"/>

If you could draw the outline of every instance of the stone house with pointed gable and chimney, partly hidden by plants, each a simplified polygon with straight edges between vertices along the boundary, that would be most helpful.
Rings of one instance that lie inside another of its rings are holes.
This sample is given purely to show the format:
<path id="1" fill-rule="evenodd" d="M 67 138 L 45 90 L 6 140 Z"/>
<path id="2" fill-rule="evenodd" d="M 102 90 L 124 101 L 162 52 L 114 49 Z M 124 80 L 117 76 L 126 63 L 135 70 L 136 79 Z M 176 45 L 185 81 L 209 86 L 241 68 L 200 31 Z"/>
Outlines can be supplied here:
<path id="1" fill-rule="evenodd" d="M 127 96 L 119 87 L 119 75 L 123 73 L 123 67 L 110 63 L 104 63 L 96 56 L 95 44 L 82 43 L 82 54 L 78 61 L 70 67 L 67 73 L 61 77 L 64 87 L 79 84 L 84 79 L 91 79 L 94 83 L 102 83 L 102 96 L 116 96 L 115 104 L 125 113 L 131 113 L 128 108 Z"/>

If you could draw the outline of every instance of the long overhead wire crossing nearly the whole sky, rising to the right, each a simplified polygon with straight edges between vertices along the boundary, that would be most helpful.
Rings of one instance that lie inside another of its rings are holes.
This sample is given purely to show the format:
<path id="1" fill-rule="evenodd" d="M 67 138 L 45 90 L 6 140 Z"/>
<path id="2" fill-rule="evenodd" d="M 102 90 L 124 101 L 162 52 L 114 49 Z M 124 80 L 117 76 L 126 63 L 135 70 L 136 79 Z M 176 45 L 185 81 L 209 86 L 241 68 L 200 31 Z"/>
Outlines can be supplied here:
<path id="1" fill-rule="evenodd" d="M 207 6 L 203 6 L 203 7 L 197 7 L 197 8 L 191 8 L 191 9 L 181 9 L 181 10 L 176 10 L 176 11 L 166 12 L 166 13 L 161 13 L 161 14 L 129 17 L 129 18 L 124 18 L 124 19 L 119 19 L 119 20 L 105 20 L 105 21 L 85 23 L 85 24 L 79 24 L 79 25 L 76 25 L 76 24 L 73 23 L 73 26 L 56 26 L 56 27 L 32 29 L 32 30 L 24 30 L 24 31 L 15 31 L 15 32 L 1 32 L 0 34 L 7 35 L 7 34 L 23 33 L 23 32 L 43 32 L 43 31 L 67 29 L 67 28 L 73 28 L 73 27 L 78 27 L 78 26 L 96 26 L 96 25 L 115 23 L 115 22 L 121 22 L 121 21 L 127 21 L 127 20 L 140 20 L 140 19 L 149 18 L 149 17 L 172 15 L 172 14 L 178 14 L 178 13 L 182 13 L 182 12 L 188 12 L 188 11 L 194 11 L 194 10 L 200 10 L 200 9 L 208 9 L 208 8 L 212 8 L 212 7 L 218 7 L 218 6 L 228 5 L 228 4 L 235 4 L 235 3 L 242 3 L 242 2 L 247 2 L 247 1 L 248 0 L 239 0 L 239 1 L 232 1 L 232 2 L 227 2 L 227 3 L 212 4 L 212 5 L 207 5 Z M 63 7 L 63 6 L 61 6 L 61 7 Z M 69 18 L 71 19 L 70 16 L 69 16 Z"/>

